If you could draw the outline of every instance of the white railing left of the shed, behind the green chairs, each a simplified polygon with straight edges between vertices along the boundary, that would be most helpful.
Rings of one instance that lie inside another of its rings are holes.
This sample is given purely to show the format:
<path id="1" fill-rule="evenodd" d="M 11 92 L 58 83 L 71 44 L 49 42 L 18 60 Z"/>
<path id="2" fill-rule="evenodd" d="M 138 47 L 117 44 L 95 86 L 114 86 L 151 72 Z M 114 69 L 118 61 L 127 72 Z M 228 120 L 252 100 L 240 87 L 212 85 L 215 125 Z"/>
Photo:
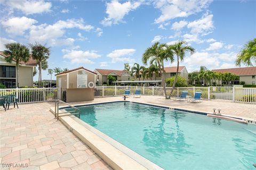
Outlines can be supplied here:
<path id="1" fill-rule="evenodd" d="M 59 99 L 59 88 L 0 89 L 0 96 L 16 95 L 18 103 L 33 103 Z"/>

